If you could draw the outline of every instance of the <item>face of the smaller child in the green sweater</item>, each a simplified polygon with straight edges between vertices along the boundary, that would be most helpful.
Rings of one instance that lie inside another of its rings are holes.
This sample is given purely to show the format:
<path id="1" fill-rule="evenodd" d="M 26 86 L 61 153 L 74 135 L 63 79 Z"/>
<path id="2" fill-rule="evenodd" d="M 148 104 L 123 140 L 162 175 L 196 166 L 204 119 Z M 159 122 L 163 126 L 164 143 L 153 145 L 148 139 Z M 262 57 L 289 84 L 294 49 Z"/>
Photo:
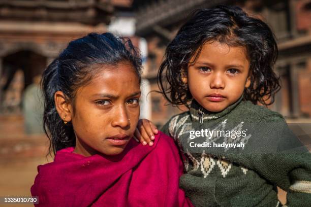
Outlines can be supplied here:
<path id="1" fill-rule="evenodd" d="M 250 86 L 249 67 L 245 48 L 207 42 L 196 61 L 188 65 L 188 75 L 183 81 L 188 82 L 192 96 L 202 107 L 220 112 Z"/>

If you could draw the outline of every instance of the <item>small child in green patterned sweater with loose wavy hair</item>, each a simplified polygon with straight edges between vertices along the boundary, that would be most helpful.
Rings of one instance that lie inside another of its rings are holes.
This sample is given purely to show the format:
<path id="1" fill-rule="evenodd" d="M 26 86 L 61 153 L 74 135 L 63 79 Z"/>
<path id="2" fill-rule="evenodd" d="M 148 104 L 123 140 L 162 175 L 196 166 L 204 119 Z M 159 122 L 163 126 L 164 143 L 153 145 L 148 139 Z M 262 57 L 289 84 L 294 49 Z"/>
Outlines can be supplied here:
<path id="1" fill-rule="evenodd" d="M 257 105 L 279 90 L 276 56 L 268 25 L 238 7 L 198 10 L 168 45 L 159 85 L 189 111 L 162 131 L 185 157 L 179 185 L 195 206 L 275 207 L 276 186 L 287 206 L 311 206 L 310 153 L 282 115 Z M 142 143 L 156 140 L 148 121 L 139 128 Z"/>

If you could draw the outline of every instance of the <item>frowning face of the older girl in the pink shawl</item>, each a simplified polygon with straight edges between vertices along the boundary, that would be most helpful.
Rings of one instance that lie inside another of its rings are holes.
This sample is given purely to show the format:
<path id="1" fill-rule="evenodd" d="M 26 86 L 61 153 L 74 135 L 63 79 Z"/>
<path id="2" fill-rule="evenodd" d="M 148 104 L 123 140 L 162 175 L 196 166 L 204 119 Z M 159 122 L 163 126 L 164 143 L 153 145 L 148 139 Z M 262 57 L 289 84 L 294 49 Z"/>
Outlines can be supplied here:
<path id="1" fill-rule="evenodd" d="M 76 134 L 74 152 L 84 156 L 121 153 L 133 137 L 139 119 L 140 85 L 133 66 L 103 65 L 99 71 L 77 90 L 75 110 L 70 105 L 66 114 L 66 121 L 72 122 Z"/>

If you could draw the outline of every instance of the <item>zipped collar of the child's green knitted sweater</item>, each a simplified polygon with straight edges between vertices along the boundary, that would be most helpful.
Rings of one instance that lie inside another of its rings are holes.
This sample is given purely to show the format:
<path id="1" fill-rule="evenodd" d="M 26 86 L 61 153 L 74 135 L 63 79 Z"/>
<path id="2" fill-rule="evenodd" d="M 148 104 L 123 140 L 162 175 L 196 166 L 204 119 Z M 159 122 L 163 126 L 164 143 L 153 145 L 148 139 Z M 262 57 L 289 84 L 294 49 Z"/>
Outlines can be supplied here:
<path id="1" fill-rule="evenodd" d="M 193 99 L 190 106 L 190 114 L 193 120 L 199 121 L 200 123 L 203 123 L 206 120 L 217 119 L 230 113 L 241 102 L 242 99 L 243 94 L 236 102 L 232 103 L 232 105 L 221 112 L 207 111 L 195 99 Z"/>

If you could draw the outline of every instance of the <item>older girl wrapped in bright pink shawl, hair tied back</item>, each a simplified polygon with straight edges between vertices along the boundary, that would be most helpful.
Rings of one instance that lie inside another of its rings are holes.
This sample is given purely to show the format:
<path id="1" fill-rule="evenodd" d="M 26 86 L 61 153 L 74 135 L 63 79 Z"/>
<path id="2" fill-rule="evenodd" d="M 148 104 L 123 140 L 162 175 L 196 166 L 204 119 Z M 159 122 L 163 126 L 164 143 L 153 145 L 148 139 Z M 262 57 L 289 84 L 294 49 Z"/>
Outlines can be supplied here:
<path id="1" fill-rule="evenodd" d="M 111 33 L 70 42 L 46 68 L 44 128 L 56 155 L 38 166 L 38 206 L 192 206 L 173 140 L 160 133 L 146 148 L 131 139 L 140 72 L 131 41 Z"/>

